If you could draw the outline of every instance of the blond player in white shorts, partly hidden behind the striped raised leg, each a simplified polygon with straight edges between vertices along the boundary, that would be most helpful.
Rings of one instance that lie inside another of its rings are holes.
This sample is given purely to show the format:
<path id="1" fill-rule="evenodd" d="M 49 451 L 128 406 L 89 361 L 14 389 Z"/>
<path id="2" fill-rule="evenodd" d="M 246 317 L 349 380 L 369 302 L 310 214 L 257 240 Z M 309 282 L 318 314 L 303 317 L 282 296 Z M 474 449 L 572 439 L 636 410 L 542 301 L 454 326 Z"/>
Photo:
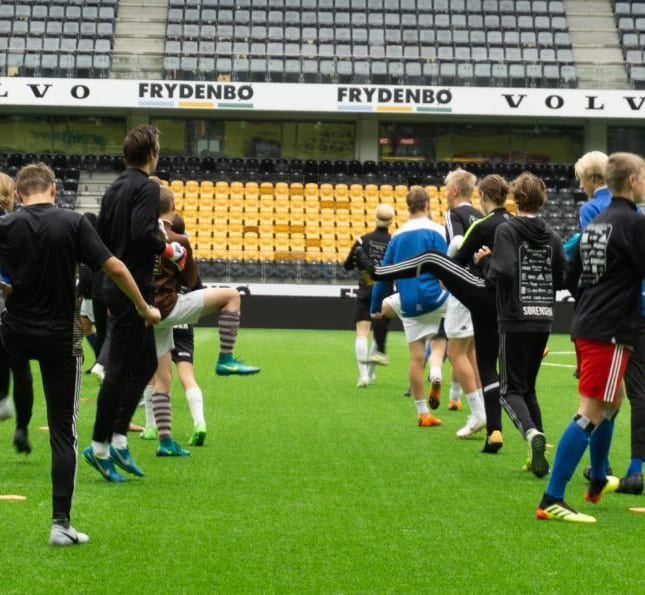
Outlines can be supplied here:
<path id="1" fill-rule="evenodd" d="M 483 213 L 473 207 L 471 196 L 477 184 L 477 178 L 463 169 L 451 171 L 445 179 L 446 201 L 446 241 L 448 256 L 454 256 L 458 246 L 463 241 L 466 230 Z M 466 400 L 470 404 L 470 415 L 463 428 L 457 430 L 458 438 L 466 438 L 486 427 L 484 397 L 481 390 L 481 380 L 477 370 L 475 340 L 470 311 L 454 295 L 448 298 L 446 319 L 446 335 L 448 337 L 448 358 L 453 371 L 453 378 L 459 385 L 459 391 L 464 390 Z M 451 395 L 449 409 L 458 409 L 461 405 L 456 389 Z M 456 403 L 459 402 L 459 405 Z"/>

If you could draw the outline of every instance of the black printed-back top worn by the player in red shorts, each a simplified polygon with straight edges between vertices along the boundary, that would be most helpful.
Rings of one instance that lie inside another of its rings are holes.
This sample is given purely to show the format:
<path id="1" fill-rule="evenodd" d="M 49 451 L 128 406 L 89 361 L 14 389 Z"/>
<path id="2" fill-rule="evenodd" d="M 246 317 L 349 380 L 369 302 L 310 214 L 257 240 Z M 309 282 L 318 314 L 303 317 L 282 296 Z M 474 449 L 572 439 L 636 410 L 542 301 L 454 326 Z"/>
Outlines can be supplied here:
<path id="1" fill-rule="evenodd" d="M 613 197 L 584 228 L 573 269 L 580 274 L 569 283 L 576 293 L 572 337 L 635 345 L 645 277 L 645 216 L 631 200 Z"/>

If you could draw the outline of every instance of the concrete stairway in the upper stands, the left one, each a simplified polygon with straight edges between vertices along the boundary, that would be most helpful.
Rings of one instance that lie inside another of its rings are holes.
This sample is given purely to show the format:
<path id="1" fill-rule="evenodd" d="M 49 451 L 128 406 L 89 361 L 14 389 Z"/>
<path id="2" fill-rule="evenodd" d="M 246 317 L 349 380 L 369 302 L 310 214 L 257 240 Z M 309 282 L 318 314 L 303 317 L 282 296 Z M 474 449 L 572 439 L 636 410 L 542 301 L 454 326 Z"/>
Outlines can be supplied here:
<path id="1" fill-rule="evenodd" d="M 160 78 L 168 0 L 120 0 L 117 14 L 111 77 Z"/>

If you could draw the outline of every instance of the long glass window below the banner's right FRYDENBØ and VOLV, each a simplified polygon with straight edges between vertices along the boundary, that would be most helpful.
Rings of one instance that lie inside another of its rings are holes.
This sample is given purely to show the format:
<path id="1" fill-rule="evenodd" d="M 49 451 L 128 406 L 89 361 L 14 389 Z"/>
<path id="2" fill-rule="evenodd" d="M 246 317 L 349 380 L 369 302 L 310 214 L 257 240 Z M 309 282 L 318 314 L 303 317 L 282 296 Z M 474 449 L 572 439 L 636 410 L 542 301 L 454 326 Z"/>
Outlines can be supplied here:
<path id="1" fill-rule="evenodd" d="M 582 153 L 583 135 L 573 126 L 381 123 L 379 158 L 571 163 Z"/>

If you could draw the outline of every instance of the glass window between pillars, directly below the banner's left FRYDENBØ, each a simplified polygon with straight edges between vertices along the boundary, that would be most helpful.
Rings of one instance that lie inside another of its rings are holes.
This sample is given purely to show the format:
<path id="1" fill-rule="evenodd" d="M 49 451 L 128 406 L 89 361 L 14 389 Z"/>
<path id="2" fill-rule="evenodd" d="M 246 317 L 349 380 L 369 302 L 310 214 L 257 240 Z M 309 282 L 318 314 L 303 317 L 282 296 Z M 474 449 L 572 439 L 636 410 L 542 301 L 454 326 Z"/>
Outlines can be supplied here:
<path id="1" fill-rule="evenodd" d="M 354 159 L 353 122 L 153 118 L 162 151 L 199 157 Z"/>

